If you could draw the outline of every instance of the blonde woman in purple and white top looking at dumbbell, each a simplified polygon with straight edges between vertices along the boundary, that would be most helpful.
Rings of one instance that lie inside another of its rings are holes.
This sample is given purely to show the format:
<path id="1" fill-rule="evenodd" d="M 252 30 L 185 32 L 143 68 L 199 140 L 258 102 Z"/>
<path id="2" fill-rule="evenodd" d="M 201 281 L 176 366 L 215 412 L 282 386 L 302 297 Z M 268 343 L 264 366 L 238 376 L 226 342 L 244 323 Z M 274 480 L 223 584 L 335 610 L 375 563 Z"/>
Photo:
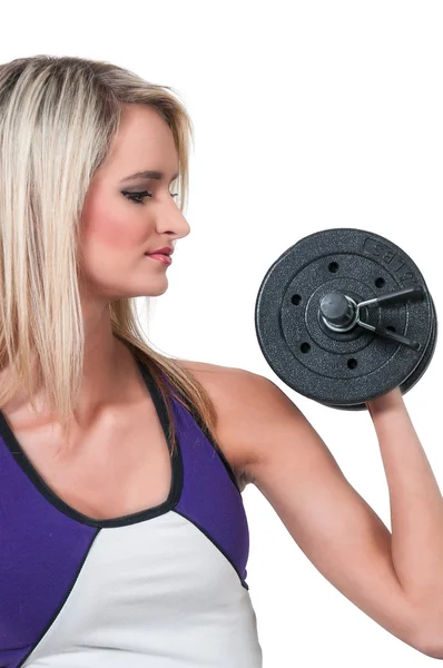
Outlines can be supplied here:
<path id="1" fill-rule="evenodd" d="M 260 666 L 248 483 L 344 596 L 442 657 L 443 504 L 400 390 L 368 404 L 391 536 L 274 383 L 144 341 L 135 297 L 189 234 L 191 137 L 170 88 L 114 65 L 0 66 L 0 666 Z"/>

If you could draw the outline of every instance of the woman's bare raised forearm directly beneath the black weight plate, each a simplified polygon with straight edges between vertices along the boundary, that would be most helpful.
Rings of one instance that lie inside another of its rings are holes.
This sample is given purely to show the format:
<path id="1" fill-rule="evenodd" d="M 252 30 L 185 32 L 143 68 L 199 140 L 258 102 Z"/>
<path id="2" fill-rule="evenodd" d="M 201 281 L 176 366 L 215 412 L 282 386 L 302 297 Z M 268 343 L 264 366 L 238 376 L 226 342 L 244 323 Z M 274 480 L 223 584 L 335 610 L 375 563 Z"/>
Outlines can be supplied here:
<path id="1" fill-rule="evenodd" d="M 407 598 L 439 617 L 443 645 L 443 498 L 400 390 L 367 405 L 390 491 L 394 568 Z"/>

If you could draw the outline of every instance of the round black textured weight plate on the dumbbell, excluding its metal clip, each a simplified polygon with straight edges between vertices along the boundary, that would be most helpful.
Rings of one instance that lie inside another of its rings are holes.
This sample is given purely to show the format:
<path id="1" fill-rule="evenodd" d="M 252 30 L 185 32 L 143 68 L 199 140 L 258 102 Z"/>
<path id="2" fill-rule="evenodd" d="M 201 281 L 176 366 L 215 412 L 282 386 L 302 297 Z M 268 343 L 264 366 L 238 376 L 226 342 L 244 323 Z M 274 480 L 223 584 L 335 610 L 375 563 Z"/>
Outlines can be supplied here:
<path id="1" fill-rule="evenodd" d="M 331 332 L 318 314 L 329 292 L 362 302 L 413 285 L 424 288 L 423 299 L 366 307 L 361 317 L 419 341 L 420 352 L 360 326 Z M 255 308 L 257 338 L 273 371 L 309 399 L 353 410 L 423 375 L 435 346 L 435 322 L 424 278 L 406 253 L 381 235 L 353 228 L 315 233 L 283 253 L 266 273 Z"/>

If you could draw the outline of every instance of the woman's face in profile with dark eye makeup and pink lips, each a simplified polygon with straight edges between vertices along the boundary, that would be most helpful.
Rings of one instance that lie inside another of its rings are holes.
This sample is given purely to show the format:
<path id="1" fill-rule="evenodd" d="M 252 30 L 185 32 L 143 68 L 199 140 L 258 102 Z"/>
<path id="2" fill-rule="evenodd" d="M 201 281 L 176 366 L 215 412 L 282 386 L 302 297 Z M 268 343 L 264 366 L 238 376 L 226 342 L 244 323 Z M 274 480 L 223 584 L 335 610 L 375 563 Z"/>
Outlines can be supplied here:
<path id="1" fill-rule="evenodd" d="M 163 173 L 160 179 L 127 177 Z M 159 114 L 128 106 L 110 155 L 93 175 L 81 215 L 80 274 L 88 296 L 112 302 L 157 296 L 168 286 L 168 265 L 147 257 L 190 232 L 171 196 L 178 157 L 173 132 Z M 132 197 L 148 191 L 149 196 Z"/>

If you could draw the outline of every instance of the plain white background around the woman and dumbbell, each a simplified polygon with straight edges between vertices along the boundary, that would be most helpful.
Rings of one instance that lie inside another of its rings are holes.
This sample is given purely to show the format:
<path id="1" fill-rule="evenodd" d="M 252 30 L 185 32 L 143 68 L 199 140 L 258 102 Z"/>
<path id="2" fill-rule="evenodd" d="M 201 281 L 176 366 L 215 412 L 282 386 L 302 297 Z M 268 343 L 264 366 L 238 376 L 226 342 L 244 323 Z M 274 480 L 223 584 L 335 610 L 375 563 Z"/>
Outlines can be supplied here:
<path id="1" fill-rule="evenodd" d="M 321 229 L 357 227 L 410 254 L 443 313 L 441 2 L 21 2 L 0 16 L 1 62 L 108 60 L 180 92 L 196 128 L 191 233 L 177 243 L 167 292 L 152 299 L 147 336 L 166 354 L 272 379 L 391 528 L 368 414 L 284 385 L 260 353 L 254 308 L 286 248 Z M 437 344 L 405 396 L 440 484 L 441 373 Z M 431 665 L 318 573 L 256 488 L 243 498 L 265 668 Z"/>

